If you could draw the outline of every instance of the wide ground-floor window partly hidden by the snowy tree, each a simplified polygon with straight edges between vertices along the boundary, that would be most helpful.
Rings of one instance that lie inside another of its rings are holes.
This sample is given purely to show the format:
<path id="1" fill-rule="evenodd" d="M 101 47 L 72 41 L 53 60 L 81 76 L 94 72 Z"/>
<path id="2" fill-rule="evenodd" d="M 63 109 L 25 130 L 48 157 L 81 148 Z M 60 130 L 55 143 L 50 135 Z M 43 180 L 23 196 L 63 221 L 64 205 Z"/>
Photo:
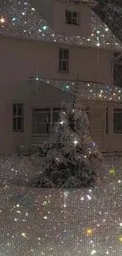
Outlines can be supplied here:
<path id="1" fill-rule="evenodd" d="M 33 109 L 32 134 L 49 135 L 59 119 L 59 108 Z"/>

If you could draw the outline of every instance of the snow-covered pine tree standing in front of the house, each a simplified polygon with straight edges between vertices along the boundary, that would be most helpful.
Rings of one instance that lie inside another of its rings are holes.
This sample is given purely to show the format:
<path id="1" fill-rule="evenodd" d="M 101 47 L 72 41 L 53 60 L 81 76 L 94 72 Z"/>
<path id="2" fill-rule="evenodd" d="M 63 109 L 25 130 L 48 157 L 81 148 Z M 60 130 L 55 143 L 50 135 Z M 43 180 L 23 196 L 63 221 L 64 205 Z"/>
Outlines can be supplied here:
<path id="1" fill-rule="evenodd" d="M 77 80 L 71 101 L 61 109 L 49 142 L 40 148 L 46 161 L 35 187 L 93 187 L 95 184 L 97 175 L 91 164 L 96 159 L 101 161 L 102 156 L 91 140 L 87 113 L 79 107 L 78 87 Z"/>

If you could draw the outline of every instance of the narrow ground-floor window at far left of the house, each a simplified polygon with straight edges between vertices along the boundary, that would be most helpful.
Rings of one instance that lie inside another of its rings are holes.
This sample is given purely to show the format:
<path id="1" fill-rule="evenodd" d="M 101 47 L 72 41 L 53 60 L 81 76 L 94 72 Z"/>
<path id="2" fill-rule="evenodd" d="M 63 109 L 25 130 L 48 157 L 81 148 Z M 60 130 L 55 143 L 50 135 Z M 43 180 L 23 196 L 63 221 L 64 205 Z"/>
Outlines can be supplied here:
<path id="1" fill-rule="evenodd" d="M 24 132 L 24 104 L 13 103 L 13 132 Z"/>

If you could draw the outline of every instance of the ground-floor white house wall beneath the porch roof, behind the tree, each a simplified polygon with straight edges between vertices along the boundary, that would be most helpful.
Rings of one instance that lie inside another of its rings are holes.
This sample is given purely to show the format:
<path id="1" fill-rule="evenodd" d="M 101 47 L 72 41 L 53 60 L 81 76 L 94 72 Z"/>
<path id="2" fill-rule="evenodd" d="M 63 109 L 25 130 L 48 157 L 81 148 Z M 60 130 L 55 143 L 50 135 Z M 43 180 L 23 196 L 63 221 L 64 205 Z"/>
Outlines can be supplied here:
<path id="1" fill-rule="evenodd" d="M 19 145 L 25 146 L 25 153 L 31 144 L 39 144 L 47 136 L 32 135 L 32 109 L 61 107 L 61 102 L 70 100 L 70 95 L 47 84 L 40 84 L 42 94 L 37 98 L 37 83 L 24 80 L 20 83 L 8 83 L 1 87 L 0 95 L 0 154 L 16 154 Z M 13 132 L 13 102 L 24 103 L 24 132 Z M 122 103 L 116 102 L 81 102 L 81 106 L 90 109 L 91 138 L 102 151 L 122 151 L 122 134 L 113 132 L 113 109 L 122 109 Z M 105 132 L 105 111 L 109 109 L 109 133 Z"/>

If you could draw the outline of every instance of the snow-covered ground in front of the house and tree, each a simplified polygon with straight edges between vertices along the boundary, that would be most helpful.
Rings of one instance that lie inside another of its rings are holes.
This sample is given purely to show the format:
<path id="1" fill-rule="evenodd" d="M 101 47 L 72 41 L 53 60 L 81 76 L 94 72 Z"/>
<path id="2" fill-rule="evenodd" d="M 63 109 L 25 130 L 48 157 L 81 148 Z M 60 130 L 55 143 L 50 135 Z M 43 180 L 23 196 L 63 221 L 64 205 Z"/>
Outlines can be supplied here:
<path id="1" fill-rule="evenodd" d="M 28 187 L 39 165 L 0 158 L 0 256 L 121 256 L 122 158 L 106 158 L 92 189 Z"/>

